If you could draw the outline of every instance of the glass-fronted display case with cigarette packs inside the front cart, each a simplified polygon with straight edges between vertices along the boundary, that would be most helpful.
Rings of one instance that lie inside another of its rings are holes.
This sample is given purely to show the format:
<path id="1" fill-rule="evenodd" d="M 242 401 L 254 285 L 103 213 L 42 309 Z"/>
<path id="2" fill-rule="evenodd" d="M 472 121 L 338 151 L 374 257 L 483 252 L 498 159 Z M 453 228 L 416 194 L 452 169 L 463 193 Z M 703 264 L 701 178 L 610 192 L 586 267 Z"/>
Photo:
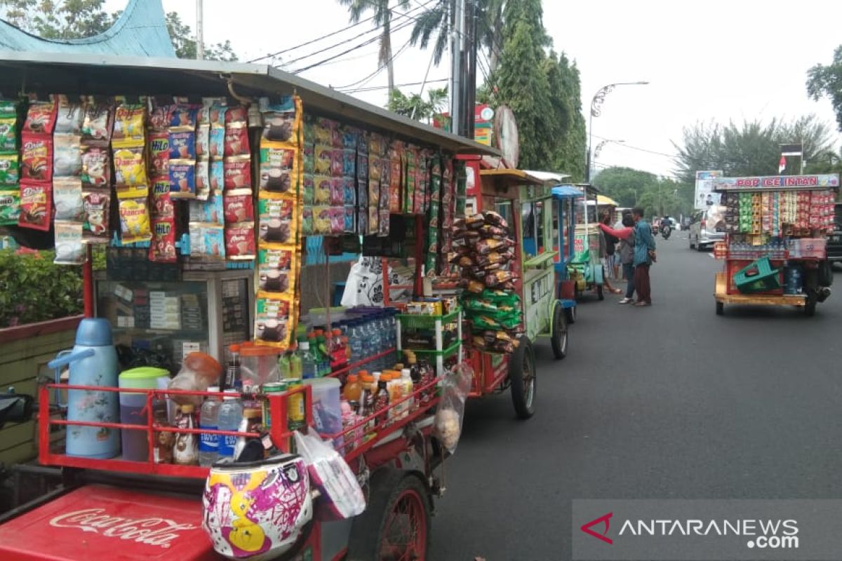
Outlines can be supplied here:
<path id="1" fill-rule="evenodd" d="M 96 280 L 96 315 L 115 345 L 157 357 L 177 371 L 190 352 L 223 362 L 232 343 L 252 338 L 253 271 L 184 272 L 179 281 Z"/>

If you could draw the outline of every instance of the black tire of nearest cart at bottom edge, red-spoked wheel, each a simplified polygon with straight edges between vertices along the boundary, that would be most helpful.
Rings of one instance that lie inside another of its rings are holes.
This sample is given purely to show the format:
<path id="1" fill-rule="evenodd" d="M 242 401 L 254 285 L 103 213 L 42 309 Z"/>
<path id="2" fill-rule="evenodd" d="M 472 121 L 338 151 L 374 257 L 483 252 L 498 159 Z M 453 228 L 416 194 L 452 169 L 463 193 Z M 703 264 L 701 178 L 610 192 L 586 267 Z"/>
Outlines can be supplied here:
<path id="1" fill-rule="evenodd" d="M 402 469 L 380 468 L 371 474 L 369 480 L 368 504 L 360 516 L 351 524 L 348 553 L 345 561 L 378 561 L 386 516 L 392 511 L 397 497 L 405 490 L 413 489 L 424 502 L 427 518 L 427 557 L 429 558 L 431 512 L 433 510 L 426 485 L 418 476 Z"/>

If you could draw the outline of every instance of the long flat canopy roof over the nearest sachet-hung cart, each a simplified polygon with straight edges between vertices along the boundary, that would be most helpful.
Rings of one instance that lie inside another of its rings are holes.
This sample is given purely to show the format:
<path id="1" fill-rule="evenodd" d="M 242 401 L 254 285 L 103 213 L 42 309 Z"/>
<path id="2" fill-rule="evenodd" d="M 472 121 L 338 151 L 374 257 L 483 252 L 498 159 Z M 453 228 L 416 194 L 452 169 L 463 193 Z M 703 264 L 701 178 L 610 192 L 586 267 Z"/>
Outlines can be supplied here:
<path id="1" fill-rule="evenodd" d="M 456 154 L 499 151 L 339 93 L 273 66 L 138 56 L 0 51 L 0 92 L 95 95 L 283 96 L 297 93 L 306 111 Z"/>

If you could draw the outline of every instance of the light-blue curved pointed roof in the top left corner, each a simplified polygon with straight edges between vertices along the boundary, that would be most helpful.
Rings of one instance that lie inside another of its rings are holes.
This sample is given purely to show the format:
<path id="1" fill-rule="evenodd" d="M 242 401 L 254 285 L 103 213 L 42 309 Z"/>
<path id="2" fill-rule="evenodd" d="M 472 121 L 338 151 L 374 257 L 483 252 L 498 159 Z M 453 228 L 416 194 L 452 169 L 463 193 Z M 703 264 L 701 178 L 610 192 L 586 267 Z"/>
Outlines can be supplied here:
<path id="1" fill-rule="evenodd" d="M 110 29 L 85 39 L 41 39 L 0 19 L 0 50 L 175 57 L 161 0 L 131 0 Z"/>

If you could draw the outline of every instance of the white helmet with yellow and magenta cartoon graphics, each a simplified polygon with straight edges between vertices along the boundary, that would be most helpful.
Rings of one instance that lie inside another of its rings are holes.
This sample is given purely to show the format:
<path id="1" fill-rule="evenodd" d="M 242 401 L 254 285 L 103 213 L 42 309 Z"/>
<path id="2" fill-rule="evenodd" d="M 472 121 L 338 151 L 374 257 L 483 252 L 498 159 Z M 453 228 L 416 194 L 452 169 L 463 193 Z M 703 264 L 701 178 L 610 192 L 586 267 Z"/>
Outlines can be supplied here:
<path id="1" fill-rule="evenodd" d="M 264 561 L 290 550 L 312 520 L 310 477 L 301 456 L 216 463 L 202 496 L 202 527 L 229 559 Z"/>

